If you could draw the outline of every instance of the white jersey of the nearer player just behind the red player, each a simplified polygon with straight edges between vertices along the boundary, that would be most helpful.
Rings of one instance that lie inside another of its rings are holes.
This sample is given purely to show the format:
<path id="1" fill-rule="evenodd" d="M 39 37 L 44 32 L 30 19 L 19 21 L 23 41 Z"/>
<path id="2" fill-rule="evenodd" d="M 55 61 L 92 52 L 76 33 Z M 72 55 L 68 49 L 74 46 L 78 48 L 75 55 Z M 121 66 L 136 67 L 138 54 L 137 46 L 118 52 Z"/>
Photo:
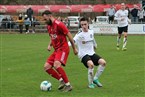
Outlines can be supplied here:
<path id="1" fill-rule="evenodd" d="M 88 32 L 80 31 L 73 39 L 78 47 L 78 57 L 80 59 L 82 59 L 87 54 L 95 54 L 94 46 L 97 47 L 97 44 L 94 39 L 93 30 L 88 30 Z"/>

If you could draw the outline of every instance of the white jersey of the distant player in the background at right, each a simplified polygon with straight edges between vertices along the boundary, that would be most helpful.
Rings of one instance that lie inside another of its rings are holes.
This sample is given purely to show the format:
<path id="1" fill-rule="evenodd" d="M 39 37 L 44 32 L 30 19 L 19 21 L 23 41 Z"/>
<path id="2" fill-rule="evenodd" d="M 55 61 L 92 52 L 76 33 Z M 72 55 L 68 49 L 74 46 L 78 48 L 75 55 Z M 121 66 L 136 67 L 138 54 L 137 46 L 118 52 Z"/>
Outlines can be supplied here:
<path id="1" fill-rule="evenodd" d="M 118 22 L 119 27 L 125 27 L 128 25 L 128 10 L 118 10 L 115 13 L 115 20 Z M 121 20 L 124 19 L 124 20 Z"/>

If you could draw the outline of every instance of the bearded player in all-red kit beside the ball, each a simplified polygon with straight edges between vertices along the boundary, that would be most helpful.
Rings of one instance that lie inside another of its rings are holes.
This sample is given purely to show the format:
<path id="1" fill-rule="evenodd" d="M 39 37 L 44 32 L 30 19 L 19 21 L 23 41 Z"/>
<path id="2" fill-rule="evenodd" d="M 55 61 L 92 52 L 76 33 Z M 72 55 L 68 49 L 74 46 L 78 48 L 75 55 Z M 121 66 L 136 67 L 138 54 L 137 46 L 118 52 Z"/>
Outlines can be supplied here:
<path id="1" fill-rule="evenodd" d="M 44 11 L 42 16 L 47 24 L 48 33 L 51 38 L 47 49 L 50 51 L 51 47 L 54 48 L 54 52 L 44 64 L 44 69 L 49 75 L 60 81 L 59 90 L 63 89 L 64 92 L 71 91 L 72 86 L 62 66 L 66 65 L 70 51 L 66 37 L 68 37 L 72 44 L 74 54 L 77 54 L 72 35 L 67 27 L 61 21 L 56 20 L 49 10 Z"/>

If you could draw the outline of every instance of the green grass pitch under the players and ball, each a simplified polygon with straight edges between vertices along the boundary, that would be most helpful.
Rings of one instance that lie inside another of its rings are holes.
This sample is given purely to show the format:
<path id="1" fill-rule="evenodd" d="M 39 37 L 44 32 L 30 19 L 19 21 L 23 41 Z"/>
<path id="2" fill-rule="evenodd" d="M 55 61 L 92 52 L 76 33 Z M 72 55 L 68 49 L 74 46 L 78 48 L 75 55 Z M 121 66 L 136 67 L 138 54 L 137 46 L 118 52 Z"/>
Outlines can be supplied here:
<path id="1" fill-rule="evenodd" d="M 116 36 L 95 39 L 96 52 L 107 61 L 100 77 L 103 87 L 87 88 L 87 69 L 71 49 L 65 70 L 73 91 L 63 93 L 43 70 L 52 53 L 47 51 L 48 34 L 0 34 L 0 97 L 145 97 L 145 36 L 129 35 L 127 51 L 116 50 Z M 43 80 L 52 83 L 52 91 L 40 90 Z"/>

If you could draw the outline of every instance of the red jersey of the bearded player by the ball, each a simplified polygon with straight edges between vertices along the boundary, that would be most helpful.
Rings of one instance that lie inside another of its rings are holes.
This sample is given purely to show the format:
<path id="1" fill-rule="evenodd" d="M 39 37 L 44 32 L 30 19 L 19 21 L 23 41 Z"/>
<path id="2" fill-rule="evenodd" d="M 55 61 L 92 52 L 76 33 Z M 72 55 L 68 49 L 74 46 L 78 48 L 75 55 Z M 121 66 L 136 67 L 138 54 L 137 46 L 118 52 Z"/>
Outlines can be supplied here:
<path id="1" fill-rule="evenodd" d="M 67 27 L 60 21 L 54 20 L 52 25 L 47 26 L 51 44 L 55 50 L 69 48 L 66 34 L 69 32 Z"/>

